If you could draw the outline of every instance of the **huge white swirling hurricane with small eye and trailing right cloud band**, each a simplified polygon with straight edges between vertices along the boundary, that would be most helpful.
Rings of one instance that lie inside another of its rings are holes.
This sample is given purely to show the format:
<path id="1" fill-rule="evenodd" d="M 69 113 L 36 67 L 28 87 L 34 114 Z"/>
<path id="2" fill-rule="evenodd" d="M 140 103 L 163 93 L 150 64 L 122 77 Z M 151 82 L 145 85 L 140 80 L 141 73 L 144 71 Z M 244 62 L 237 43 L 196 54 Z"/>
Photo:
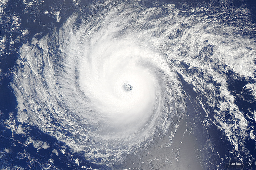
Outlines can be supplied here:
<path id="1" fill-rule="evenodd" d="M 205 8 L 185 17 L 175 5 L 98 7 L 93 15 L 73 13 L 60 29 L 22 45 L 12 70 L 20 123 L 85 151 L 92 162 L 116 163 L 158 137 L 168 134 L 172 143 L 170 133 L 186 117 L 180 75 L 198 95 L 202 123 L 228 127 L 224 133 L 240 152 L 248 121 L 226 73 L 255 80 L 254 42 L 234 36 L 238 28 L 215 22 Z M 230 118 L 223 121 L 224 114 Z M 25 133 L 22 126 L 16 131 Z"/>

